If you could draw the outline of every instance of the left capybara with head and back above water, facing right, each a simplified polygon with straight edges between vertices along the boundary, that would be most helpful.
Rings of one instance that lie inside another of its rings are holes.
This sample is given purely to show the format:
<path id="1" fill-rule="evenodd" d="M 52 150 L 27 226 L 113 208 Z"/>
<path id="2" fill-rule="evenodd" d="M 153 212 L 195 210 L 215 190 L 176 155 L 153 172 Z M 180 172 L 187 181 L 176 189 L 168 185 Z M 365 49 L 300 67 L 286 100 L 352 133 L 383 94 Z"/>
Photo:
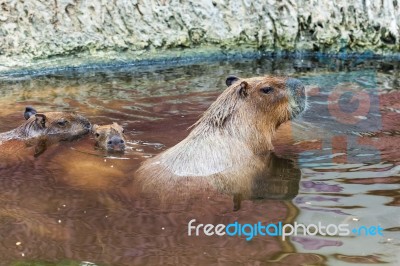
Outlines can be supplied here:
<path id="1" fill-rule="evenodd" d="M 25 123 L 8 132 L 0 133 L 2 154 L 13 154 L 26 146 L 35 147 L 35 155 L 42 153 L 48 145 L 73 140 L 89 133 L 91 124 L 83 116 L 73 112 L 38 113 L 26 107 Z"/>

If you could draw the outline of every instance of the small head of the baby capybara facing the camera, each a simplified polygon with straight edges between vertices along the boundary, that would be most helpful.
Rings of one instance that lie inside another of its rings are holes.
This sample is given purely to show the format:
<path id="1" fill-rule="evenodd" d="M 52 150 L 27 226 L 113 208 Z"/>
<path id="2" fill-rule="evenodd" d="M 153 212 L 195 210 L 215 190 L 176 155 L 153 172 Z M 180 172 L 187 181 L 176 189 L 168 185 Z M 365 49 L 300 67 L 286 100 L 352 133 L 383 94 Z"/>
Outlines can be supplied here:
<path id="1" fill-rule="evenodd" d="M 107 151 L 123 152 L 125 150 L 124 129 L 117 123 L 104 126 L 93 125 L 92 133 L 96 140 L 96 147 Z"/>

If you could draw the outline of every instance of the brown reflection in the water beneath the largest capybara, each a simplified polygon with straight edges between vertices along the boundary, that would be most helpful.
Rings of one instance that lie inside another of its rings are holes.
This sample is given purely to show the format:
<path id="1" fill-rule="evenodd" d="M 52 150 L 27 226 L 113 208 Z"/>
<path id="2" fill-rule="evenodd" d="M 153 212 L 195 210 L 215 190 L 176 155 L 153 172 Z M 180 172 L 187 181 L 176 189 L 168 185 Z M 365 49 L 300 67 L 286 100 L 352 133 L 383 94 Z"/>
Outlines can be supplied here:
<path id="1" fill-rule="evenodd" d="M 291 200 L 299 190 L 301 171 L 288 159 L 273 152 L 245 158 L 239 164 L 205 177 L 186 177 L 183 181 L 166 180 L 164 176 L 143 175 L 138 186 L 145 192 L 157 193 L 162 199 L 193 197 L 194 194 L 219 192 L 233 196 L 233 209 L 239 210 L 243 200 Z M 150 180 L 147 180 L 149 178 Z M 199 180 L 201 179 L 201 180 Z M 149 186 L 151 182 L 151 186 Z M 179 187 L 179 188 L 174 188 Z"/>

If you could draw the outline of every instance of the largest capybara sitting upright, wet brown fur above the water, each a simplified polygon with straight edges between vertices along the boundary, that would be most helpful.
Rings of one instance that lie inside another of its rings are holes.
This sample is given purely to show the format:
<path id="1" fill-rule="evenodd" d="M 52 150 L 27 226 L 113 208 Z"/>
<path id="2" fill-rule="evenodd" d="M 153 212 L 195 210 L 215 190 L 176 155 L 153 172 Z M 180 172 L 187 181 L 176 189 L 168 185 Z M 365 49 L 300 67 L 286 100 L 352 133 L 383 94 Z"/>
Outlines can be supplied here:
<path id="1" fill-rule="evenodd" d="M 176 189 L 178 182 L 213 178 L 227 171 L 235 176 L 230 169 L 239 171 L 240 178 L 243 164 L 273 149 L 271 140 L 278 126 L 306 107 L 305 88 L 294 78 L 230 76 L 226 84 L 228 88 L 189 136 L 138 169 L 136 180 L 145 190 Z"/>

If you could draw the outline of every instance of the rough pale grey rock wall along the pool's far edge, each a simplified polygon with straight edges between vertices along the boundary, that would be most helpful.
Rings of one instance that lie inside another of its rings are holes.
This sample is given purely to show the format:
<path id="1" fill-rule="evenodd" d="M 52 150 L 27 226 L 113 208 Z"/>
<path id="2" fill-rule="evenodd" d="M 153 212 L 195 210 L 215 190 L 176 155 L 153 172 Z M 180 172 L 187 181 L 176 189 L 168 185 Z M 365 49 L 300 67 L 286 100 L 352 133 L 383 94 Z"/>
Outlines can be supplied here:
<path id="1" fill-rule="evenodd" d="M 170 49 L 399 51 L 398 0 L 0 0 L 0 70 Z"/>

